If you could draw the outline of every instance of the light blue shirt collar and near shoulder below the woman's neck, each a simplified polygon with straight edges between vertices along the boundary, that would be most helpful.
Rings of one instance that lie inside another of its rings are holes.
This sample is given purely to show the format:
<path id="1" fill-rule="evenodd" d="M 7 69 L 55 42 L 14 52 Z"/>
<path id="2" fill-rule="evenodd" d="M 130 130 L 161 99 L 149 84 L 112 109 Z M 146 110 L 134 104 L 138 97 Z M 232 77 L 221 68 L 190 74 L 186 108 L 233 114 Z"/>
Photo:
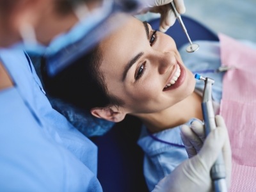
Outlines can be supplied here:
<path id="1" fill-rule="evenodd" d="M 188 125 L 192 120 L 195 119 L 189 120 Z M 182 161 L 188 159 L 188 154 L 180 138 L 179 127 L 173 127 L 173 129 L 166 129 L 154 134 L 156 138 L 173 145 L 153 140 L 148 136 L 146 127 L 142 128 L 143 131 L 141 132 L 141 138 L 138 140 L 138 145 L 145 153 L 143 173 L 150 191 L 155 188 L 159 180 L 170 174 Z M 175 145 L 183 147 L 176 147 Z"/>

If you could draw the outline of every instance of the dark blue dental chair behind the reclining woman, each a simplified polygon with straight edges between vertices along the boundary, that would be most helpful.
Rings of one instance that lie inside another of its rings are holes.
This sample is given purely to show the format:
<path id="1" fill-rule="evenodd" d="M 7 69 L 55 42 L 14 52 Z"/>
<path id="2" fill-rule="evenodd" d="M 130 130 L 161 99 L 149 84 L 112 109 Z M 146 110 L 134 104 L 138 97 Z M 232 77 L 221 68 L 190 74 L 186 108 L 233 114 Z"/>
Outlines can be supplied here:
<path id="1" fill-rule="evenodd" d="M 216 34 L 196 20 L 186 16 L 182 16 L 182 20 L 192 42 L 218 41 Z M 149 23 L 153 29 L 158 29 L 159 19 L 150 20 Z M 188 44 L 178 21 L 166 34 L 172 36 L 178 49 Z M 104 192 L 148 191 L 143 177 L 143 151 L 136 144 L 140 129 L 141 122 L 127 116 L 123 122 L 113 125 L 113 128 L 103 136 L 91 138 L 99 148 L 97 176 Z"/>

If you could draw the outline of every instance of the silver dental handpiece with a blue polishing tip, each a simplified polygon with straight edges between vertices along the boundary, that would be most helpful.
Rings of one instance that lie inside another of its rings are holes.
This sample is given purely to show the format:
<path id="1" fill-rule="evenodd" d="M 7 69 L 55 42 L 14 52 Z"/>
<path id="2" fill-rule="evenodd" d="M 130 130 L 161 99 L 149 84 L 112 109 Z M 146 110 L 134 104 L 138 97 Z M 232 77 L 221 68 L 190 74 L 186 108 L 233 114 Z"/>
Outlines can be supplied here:
<path id="1" fill-rule="evenodd" d="M 205 136 L 207 136 L 209 132 L 216 129 L 215 115 L 212 107 L 212 84 L 214 84 L 214 80 L 209 77 L 202 77 L 199 74 L 195 74 L 195 78 L 200 79 L 205 83 L 202 99 L 202 111 L 204 116 Z M 225 177 L 225 164 L 221 153 L 211 168 L 211 178 L 214 184 L 214 191 L 227 191 Z"/>

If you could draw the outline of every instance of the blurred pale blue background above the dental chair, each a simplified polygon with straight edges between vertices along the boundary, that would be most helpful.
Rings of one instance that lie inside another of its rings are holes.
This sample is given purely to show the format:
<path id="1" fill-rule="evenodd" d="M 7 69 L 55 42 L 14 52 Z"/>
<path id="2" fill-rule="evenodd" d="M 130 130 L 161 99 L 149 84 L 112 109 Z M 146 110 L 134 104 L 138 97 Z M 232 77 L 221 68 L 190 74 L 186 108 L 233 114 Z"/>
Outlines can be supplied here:
<path id="1" fill-rule="evenodd" d="M 256 0 L 184 0 L 184 3 L 184 15 L 204 24 L 214 33 L 256 43 Z M 141 19 L 151 17 L 158 15 L 149 13 Z"/>

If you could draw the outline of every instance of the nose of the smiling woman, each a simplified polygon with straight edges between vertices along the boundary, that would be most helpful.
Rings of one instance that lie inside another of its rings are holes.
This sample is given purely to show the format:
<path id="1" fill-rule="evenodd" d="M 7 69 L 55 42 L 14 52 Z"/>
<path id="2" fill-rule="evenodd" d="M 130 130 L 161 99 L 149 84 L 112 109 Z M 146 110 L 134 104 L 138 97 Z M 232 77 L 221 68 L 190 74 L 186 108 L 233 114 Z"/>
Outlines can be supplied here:
<path id="1" fill-rule="evenodd" d="M 165 74 L 173 65 L 177 63 L 175 54 L 172 52 L 158 52 L 157 54 L 157 68 L 159 74 Z"/>

